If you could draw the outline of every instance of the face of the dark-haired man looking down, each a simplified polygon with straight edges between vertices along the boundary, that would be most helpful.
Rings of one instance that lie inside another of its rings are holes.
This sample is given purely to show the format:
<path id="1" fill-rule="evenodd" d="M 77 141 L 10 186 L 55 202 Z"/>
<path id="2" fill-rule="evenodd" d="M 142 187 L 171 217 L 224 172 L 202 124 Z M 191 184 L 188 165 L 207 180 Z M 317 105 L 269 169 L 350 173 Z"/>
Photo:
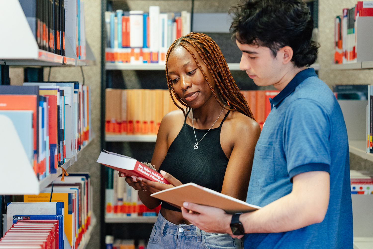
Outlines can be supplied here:
<path id="1" fill-rule="evenodd" d="M 245 70 L 247 75 L 259 86 L 273 85 L 283 77 L 282 52 L 279 51 L 274 58 L 268 47 L 252 44 L 241 44 L 236 40 L 238 48 L 242 51 L 239 68 Z"/>

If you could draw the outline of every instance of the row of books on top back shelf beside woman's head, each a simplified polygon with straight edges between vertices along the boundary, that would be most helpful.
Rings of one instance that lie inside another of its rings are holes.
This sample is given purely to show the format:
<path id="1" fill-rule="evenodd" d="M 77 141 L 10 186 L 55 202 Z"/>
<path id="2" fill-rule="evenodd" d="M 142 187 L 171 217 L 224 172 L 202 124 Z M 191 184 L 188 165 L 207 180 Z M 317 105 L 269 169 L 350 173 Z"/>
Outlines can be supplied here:
<path id="1" fill-rule="evenodd" d="M 166 53 L 176 39 L 190 33 L 191 13 L 149 13 L 131 10 L 105 12 L 106 61 L 131 64 L 166 62 Z"/>

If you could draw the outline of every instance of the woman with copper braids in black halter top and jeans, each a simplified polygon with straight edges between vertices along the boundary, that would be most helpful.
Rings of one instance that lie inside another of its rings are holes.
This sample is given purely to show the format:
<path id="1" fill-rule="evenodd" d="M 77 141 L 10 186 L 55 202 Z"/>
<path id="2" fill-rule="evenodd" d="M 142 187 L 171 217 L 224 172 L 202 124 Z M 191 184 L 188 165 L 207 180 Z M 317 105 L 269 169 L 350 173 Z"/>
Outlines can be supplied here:
<path id="1" fill-rule="evenodd" d="M 245 201 L 260 127 L 219 47 L 205 34 L 179 38 L 167 52 L 166 77 L 171 97 L 186 108 L 163 117 L 151 164 L 171 184 L 134 176 L 126 182 L 151 209 L 161 203 L 151 193 L 189 182 Z M 240 240 L 201 231 L 182 217 L 180 207 L 162 202 L 147 248 L 180 244 L 241 248 Z"/>

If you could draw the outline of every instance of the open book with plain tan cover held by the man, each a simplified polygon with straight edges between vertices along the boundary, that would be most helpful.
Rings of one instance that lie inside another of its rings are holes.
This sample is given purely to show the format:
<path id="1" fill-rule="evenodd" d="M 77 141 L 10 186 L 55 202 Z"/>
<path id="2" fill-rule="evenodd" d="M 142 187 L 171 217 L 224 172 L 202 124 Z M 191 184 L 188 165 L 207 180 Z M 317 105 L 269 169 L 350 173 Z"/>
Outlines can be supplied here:
<path id="1" fill-rule="evenodd" d="M 247 213 L 260 208 L 260 206 L 248 204 L 195 183 L 187 183 L 171 189 L 165 189 L 150 196 L 178 206 L 183 206 L 183 202 L 213 206 L 223 209 L 228 214 Z"/>

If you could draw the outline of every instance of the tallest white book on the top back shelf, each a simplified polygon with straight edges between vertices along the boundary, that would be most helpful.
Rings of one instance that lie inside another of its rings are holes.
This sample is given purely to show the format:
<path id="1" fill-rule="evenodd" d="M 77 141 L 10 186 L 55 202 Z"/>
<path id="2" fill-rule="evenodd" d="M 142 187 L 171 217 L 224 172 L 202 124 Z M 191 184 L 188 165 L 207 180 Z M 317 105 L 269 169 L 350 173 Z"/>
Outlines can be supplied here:
<path id="1" fill-rule="evenodd" d="M 159 6 L 149 7 L 150 62 L 158 63 L 159 52 Z"/>

